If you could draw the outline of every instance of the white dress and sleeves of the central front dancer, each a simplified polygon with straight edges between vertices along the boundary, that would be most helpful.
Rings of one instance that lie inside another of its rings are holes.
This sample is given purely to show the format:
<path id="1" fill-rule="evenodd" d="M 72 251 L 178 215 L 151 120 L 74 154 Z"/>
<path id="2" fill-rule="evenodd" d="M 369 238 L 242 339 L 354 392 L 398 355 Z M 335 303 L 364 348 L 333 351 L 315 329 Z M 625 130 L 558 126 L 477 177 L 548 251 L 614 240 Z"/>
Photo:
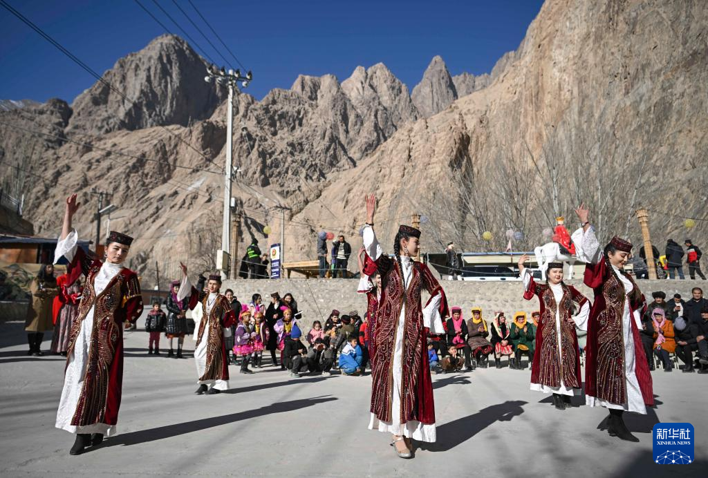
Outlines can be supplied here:
<path id="1" fill-rule="evenodd" d="M 377 260 L 379 256 L 382 255 L 381 245 L 379 245 L 374 230 L 370 226 L 365 226 L 364 229 L 364 247 L 366 248 L 367 255 L 372 260 Z M 403 265 L 404 271 L 404 283 L 406 284 L 406 288 L 408 288 L 413 275 L 413 262 L 410 257 L 401 256 L 401 264 Z M 423 325 L 430 329 L 431 334 L 445 333 L 445 330 L 442 328 L 442 319 L 440 318 L 439 311 L 441 300 L 442 296 L 440 293 L 436 293 L 430 303 L 428 303 L 428 306 L 423 309 Z M 401 308 L 401 317 L 399 319 L 398 329 L 396 330 L 396 344 L 394 347 L 393 387 L 391 396 L 392 418 L 401 416 L 401 357 L 403 354 L 403 335 L 405 328 L 406 308 L 404 306 Z M 400 424 L 394 423 L 393 421 L 380 421 L 375 414 L 370 414 L 369 429 L 384 431 L 394 435 L 402 435 L 418 441 L 435 441 L 435 424 L 421 424 L 421 422 L 417 420 Z"/>

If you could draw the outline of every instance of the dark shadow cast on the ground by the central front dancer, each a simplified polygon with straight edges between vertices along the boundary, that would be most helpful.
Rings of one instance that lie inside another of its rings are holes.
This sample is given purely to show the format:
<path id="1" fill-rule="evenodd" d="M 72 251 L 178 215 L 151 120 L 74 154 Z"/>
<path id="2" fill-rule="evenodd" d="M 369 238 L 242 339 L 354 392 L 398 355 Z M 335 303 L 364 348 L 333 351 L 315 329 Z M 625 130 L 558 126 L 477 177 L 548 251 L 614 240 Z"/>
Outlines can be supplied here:
<path id="1" fill-rule="evenodd" d="M 475 436 L 496 421 L 509 421 L 515 416 L 523 414 L 522 405 L 527 404 L 521 400 L 508 401 L 491 407 L 481 409 L 476 414 L 463 416 L 461 419 L 450 421 L 438 426 L 438 441 L 435 443 L 420 443 L 421 450 L 432 452 L 449 451 L 457 445 Z"/>

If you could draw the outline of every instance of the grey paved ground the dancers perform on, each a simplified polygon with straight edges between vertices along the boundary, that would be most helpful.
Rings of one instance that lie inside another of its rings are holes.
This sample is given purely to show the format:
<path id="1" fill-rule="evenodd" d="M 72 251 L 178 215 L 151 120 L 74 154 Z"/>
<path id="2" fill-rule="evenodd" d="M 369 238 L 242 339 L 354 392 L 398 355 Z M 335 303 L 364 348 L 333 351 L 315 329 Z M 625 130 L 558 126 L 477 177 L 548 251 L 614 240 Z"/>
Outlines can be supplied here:
<path id="1" fill-rule="evenodd" d="M 194 342 L 188 337 L 186 343 L 191 356 Z M 233 390 L 198 396 L 191 359 L 148 356 L 146 348 L 147 333 L 126 334 L 119 434 L 72 457 L 74 437 L 54 428 L 63 358 L 25 356 L 23 325 L 0 324 L 1 476 L 708 474 L 707 375 L 654 374 L 658 408 L 627 419 L 641 443 L 598 431 L 603 409 L 556 411 L 547 397 L 528 390 L 528 371 L 434 375 L 438 443 L 401 460 L 387 435 L 366 429 L 369 377 L 293 379 L 271 367 L 249 376 L 234 366 Z M 658 421 L 695 426 L 696 462 L 679 470 L 653 464 L 651 428 Z"/>

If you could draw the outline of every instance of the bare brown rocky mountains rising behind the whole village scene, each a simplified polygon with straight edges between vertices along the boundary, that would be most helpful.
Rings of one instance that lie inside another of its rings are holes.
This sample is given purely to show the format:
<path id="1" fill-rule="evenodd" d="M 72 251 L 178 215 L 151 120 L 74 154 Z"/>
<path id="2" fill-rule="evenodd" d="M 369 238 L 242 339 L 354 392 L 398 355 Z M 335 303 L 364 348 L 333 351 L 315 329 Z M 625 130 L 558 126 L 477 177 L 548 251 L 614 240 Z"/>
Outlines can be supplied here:
<path id="1" fill-rule="evenodd" d="M 581 200 L 604 235 L 638 242 L 633 215 L 644 206 L 658 245 L 668 235 L 705 237 L 705 221 L 686 231 L 683 216 L 703 217 L 708 199 L 707 26 L 700 2 L 547 0 L 489 75 L 452 77 L 435 58 L 411 95 L 382 64 L 341 83 L 299 76 L 261 101 L 241 93 L 239 255 L 253 238 L 261 248 L 280 242 L 282 208 L 286 262 L 314 259 L 321 230 L 357 247 L 371 192 L 387 250 L 413 213 L 423 215 L 424 250 L 450 239 L 499 250 L 508 233 L 515 247 L 530 247 Z M 93 237 L 95 187 L 120 206 L 110 226 L 138 238 L 130 267 L 147 283 L 156 261 L 162 276 L 176 276 L 184 257 L 193 270 L 213 267 L 226 105 L 202 80 L 204 66 L 164 36 L 105 74 L 137 105 L 97 83 L 71 107 L 51 100 L 0 112 L 13 125 L 0 124 L 0 163 L 16 166 L 0 168 L 0 180 L 28 193 L 35 231 L 54 235 L 63 198 L 78 191 L 76 226 Z M 180 99 L 195 95 L 204 96 Z"/>

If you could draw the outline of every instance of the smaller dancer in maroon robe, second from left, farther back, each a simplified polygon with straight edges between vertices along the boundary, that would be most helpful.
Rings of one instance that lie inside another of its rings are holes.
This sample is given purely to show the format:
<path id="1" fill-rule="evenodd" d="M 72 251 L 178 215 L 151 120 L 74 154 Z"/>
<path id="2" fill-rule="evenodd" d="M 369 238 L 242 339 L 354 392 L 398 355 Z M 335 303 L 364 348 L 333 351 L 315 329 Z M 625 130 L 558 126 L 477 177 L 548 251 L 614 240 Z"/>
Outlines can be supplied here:
<path id="1" fill-rule="evenodd" d="M 197 365 L 197 395 L 214 395 L 222 390 L 229 390 L 229 361 L 224 341 L 224 329 L 236 323 L 236 313 L 231 302 L 219 293 L 221 276 L 214 274 L 207 281 L 207 293 L 192 286 L 187 276 L 187 266 L 180 262 L 183 278 L 177 301 L 189 298 L 189 309 L 201 308 L 201 320 L 195 325 L 197 344 L 194 360 Z"/>

